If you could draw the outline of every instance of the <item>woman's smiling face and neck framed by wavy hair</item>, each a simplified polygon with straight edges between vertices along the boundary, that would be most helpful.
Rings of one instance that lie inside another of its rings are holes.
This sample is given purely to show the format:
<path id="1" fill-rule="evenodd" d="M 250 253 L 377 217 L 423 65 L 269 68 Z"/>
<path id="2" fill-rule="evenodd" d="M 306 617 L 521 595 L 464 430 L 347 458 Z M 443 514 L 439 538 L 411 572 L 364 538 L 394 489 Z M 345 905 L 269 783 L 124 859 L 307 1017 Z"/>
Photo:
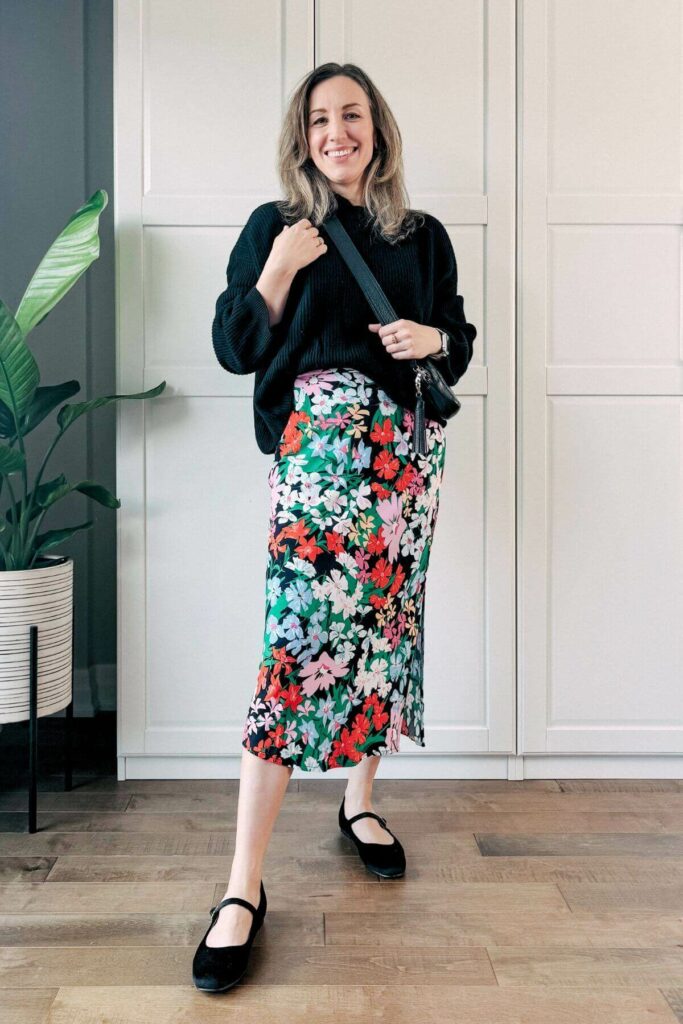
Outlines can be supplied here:
<path id="1" fill-rule="evenodd" d="M 308 97 L 308 148 L 333 191 L 359 204 L 362 179 L 373 159 L 375 132 L 370 103 L 352 78 L 336 75 L 319 82 Z M 333 156 L 344 150 L 344 157 Z"/>

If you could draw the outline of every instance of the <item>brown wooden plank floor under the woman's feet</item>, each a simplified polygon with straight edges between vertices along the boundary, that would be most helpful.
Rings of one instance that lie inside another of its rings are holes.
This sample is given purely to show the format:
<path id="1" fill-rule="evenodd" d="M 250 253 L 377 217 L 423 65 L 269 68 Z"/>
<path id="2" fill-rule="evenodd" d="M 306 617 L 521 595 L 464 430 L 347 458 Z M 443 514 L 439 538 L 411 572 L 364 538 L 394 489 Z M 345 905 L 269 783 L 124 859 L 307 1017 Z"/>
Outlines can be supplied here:
<path id="1" fill-rule="evenodd" d="M 0 762 L 2 1024 L 683 1021 L 678 780 L 380 768 L 376 806 L 408 858 L 380 881 L 338 830 L 344 780 L 293 779 L 249 973 L 212 996 L 190 967 L 227 882 L 239 783 L 119 783 L 99 762 L 65 793 L 57 754 L 35 835 L 26 778 Z"/>

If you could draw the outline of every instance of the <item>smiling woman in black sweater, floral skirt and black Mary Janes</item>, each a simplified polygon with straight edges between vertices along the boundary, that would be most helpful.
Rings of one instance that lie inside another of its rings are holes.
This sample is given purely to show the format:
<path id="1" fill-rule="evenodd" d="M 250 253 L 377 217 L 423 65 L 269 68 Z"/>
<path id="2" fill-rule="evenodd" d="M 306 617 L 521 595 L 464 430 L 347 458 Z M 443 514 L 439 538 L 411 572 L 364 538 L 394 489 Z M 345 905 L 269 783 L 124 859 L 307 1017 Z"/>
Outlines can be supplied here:
<path id="1" fill-rule="evenodd" d="M 407 208 L 398 127 L 357 66 L 323 65 L 299 85 L 279 170 L 287 199 L 250 216 L 213 324 L 220 365 L 255 373 L 256 439 L 274 458 L 234 855 L 195 954 L 205 991 L 225 991 L 247 969 L 265 914 L 263 858 L 295 765 L 353 767 L 340 828 L 376 874 L 404 872 L 372 787 L 401 734 L 425 745 L 422 621 L 445 456 L 444 428 L 431 419 L 426 454 L 414 451 L 410 360 L 440 358 L 453 385 L 476 336 L 449 234 Z M 334 213 L 400 319 L 373 323 L 319 229 Z"/>

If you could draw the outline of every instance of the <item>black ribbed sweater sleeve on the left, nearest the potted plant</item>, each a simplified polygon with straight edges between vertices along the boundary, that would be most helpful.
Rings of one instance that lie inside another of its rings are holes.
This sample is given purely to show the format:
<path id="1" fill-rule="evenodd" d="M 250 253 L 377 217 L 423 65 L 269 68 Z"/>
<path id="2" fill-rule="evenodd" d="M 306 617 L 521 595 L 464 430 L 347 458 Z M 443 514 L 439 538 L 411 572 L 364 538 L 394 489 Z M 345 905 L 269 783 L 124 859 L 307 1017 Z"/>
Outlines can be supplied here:
<path id="1" fill-rule="evenodd" d="M 216 300 L 212 338 L 216 358 L 232 374 L 251 374 L 280 343 L 282 321 L 270 327 L 265 299 L 255 287 L 270 244 L 254 211 L 232 246 L 227 262 L 227 288 Z"/>

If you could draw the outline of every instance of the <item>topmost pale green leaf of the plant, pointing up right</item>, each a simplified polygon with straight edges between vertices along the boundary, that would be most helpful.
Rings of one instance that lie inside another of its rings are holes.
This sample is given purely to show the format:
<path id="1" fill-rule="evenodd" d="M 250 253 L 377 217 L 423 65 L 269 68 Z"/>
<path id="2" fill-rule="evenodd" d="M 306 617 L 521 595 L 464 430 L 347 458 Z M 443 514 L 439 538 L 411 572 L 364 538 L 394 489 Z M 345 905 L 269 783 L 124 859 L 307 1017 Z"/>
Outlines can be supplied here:
<path id="1" fill-rule="evenodd" d="M 16 310 L 26 338 L 99 256 L 99 215 L 109 202 L 103 188 L 72 214 L 29 282 Z"/>

